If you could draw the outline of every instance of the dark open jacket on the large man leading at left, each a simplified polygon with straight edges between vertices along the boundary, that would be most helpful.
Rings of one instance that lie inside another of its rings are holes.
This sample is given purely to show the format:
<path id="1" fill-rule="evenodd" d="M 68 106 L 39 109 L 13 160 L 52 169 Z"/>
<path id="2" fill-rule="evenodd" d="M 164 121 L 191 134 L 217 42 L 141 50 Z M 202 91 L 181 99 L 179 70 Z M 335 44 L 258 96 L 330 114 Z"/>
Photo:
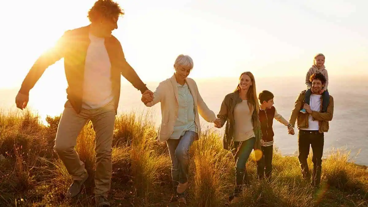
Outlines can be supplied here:
<path id="1" fill-rule="evenodd" d="M 19 92 L 28 95 L 46 68 L 64 58 L 64 69 L 68 83 L 67 99 L 74 110 L 80 113 L 82 108 L 84 65 L 90 43 L 88 36 L 89 28 L 90 25 L 66 31 L 54 48 L 36 60 L 25 77 Z M 148 88 L 125 60 L 120 42 L 114 36 L 105 38 L 105 46 L 111 62 L 112 90 L 115 111 L 117 113 L 120 98 L 120 75 L 123 75 L 141 93 L 148 90 Z"/>

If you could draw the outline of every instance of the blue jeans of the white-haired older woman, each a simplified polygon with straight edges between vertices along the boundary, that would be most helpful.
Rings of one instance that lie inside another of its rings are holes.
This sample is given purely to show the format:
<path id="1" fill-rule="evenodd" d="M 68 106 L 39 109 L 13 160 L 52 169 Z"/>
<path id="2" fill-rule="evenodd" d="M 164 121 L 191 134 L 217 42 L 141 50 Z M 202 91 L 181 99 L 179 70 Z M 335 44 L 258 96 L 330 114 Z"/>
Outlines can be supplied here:
<path id="1" fill-rule="evenodd" d="M 166 141 L 171 158 L 171 177 L 174 193 L 177 193 L 176 188 L 179 182 L 186 183 L 188 181 L 189 150 L 194 142 L 195 136 L 197 136 L 197 133 L 194 131 L 185 131 L 184 135 L 179 139 L 169 139 Z M 183 195 L 184 193 L 179 196 Z"/>

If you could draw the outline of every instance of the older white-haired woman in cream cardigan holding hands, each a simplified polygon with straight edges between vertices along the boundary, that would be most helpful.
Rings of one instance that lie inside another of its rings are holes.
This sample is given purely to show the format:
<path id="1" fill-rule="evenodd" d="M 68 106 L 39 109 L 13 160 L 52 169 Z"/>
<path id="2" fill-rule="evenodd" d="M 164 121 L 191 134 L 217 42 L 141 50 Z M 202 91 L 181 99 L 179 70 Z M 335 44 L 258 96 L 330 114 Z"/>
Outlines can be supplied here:
<path id="1" fill-rule="evenodd" d="M 153 101 L 142 96 L 146 106 L 161 102 L 162 122 L 158 141 L 166 141 L 171 158 L 171 176 L 174 195 L 170 202 L 186 203 L 188 185 L 189 150 L 201 136 L 198 113 L 207 121 L 214 122 L 216 115 L 199 94 L 197 84 L 189 73 L 193 68 L 190 56 L 179 55 L 174 63 L 174 75 L 162 81 L 153 93 Z"/>

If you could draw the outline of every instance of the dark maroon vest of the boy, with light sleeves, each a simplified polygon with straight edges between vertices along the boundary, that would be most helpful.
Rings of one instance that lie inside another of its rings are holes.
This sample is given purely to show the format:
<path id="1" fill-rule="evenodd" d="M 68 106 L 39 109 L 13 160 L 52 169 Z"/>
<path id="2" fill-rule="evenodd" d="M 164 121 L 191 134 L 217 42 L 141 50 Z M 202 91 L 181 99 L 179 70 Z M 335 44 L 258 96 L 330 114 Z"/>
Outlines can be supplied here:
<path id="1" fill-rule="evenodd" d="M 262 140 L 273 141 L 273 117 L 275 117 L 275 107 L 267 110 L 259 110 L 259 121 L 261 122 Z"/>

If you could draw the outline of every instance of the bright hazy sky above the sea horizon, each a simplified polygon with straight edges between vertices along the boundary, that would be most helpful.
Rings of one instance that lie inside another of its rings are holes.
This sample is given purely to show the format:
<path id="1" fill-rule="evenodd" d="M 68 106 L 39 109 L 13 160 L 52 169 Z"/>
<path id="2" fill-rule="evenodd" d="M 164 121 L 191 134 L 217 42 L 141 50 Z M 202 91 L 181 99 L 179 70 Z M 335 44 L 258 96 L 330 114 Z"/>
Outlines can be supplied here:
<path id="1" fill-rule="evenodd" d="M 1 2 L 0 88 L 20 87 L 41 52 L 65 30 L 88 25 L 95 0 Z M 121 0 L 113 32 L 143 81 L 173 73 L 177 55 L 194 60 L 190 77 L 305 76 L 313 56 L 326 55 L 329 75 L 368 74 L 368 1 Z M 62 62 L 41 88 L 66 88 Z M 57 85 L 57 86 L 55 86 Z M 51 87 L 52 86 L 52 87 Z"/>

